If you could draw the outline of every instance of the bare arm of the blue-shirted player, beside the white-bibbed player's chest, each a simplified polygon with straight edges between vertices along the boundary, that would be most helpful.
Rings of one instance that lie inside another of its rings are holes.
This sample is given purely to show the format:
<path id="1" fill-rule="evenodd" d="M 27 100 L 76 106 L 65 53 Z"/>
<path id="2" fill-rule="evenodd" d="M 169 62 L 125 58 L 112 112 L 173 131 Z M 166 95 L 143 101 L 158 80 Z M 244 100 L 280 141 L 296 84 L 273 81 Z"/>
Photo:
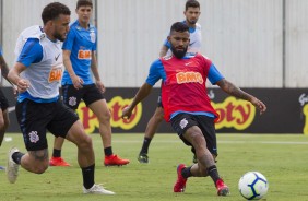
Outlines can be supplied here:
<path id="1" fill-rule="evenodd" d="M 63 49 L 63 64 L 66 67 L 66 70 L 68 71 L 70 78 L 72 79 L 72 83 L 76 90 L 82 88 L 83 80 L 79 78 L 74 70 L 71 62 L 71 50 Z"/>

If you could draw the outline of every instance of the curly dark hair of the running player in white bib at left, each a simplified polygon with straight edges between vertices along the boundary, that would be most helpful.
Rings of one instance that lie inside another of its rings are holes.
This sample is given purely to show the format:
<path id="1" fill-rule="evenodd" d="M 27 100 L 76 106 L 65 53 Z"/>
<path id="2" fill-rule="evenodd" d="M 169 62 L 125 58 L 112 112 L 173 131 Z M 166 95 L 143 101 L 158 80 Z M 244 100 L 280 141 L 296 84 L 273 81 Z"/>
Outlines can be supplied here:
<path id="1" fill-rule="evenodd" d="M 59 17 L 60 14 L 71 15 L 71 11 L 67 5 L 60 2 L 47 4 L 42 12 L 43 24 L 45 25 L 48 21 Z"/>

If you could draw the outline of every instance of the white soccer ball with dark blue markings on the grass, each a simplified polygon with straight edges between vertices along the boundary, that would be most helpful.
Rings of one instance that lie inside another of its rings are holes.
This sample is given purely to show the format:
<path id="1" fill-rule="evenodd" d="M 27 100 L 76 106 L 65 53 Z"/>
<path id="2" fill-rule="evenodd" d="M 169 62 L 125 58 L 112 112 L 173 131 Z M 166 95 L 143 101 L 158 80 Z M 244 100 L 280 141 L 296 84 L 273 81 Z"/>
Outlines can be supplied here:
<path id="1" fill-rule="evenodd" d="M 259 200 L 266 194 L 269 182 L 259 172 L 248 172 L 238 181 L 239 193 L 247 200 Z"/>

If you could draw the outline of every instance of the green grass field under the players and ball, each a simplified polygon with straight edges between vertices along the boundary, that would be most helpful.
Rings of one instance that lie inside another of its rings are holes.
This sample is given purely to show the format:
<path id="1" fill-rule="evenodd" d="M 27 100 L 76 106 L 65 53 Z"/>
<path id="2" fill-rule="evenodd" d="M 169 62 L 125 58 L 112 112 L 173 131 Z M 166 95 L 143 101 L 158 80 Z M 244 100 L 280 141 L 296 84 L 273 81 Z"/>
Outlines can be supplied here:
<path id="1" fill-rule="evenodd" d="M 52 135 L 49 144 L 52 144 Z M 25 151 L 21 134 L 7 134 L 12 141 L 0 149 L 0 165 L 7 163 L 11 146 Z M 308 137 L 300 134 L 217 134 L 217 166 L 221 176 L 230 188 L 230 196 L 216 196 L 210 178 L 189 178 L 185 193 L 174 193 L 176 166 L 191 164 L 190 149 L 176 134 L 156 134 L 150 147 L 150 164 L 139 164 L 143 134 L 114 134 L 114 152 L 131 159 L 128 166 L 104 167 L 103 149 L 98 134 L 93 134 L 96 154 L 96 184 L 104 184 L 116 196 L 82 194 L 81 170 L 76 164 L 76 149 L 67 142 L 63 157 L 72 167 L 49 167 L 43 175 L 20 169 L 15 184 L 7 181 L 0 172 L 0 201 L 240 201 L 240 176 L 249 170 L 261 172 L 268 178 L 270 189 L 263 201 L 308 201 Z M 51 153 L 51 146 L 49 147 Z"/>

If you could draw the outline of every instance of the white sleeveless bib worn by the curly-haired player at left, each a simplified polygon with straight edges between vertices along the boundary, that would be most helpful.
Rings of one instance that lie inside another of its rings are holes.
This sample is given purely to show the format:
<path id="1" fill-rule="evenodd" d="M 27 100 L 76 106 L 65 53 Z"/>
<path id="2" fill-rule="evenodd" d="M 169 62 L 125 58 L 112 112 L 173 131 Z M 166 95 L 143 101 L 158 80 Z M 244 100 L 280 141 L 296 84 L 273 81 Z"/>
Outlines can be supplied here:
<path id="1" fill-rule="evenodd" d="M 59 96 L 59 85 L 62 78 L 62 43 L 48 39 L 40 26 L 31 26 L 19 36 L 14 51 L 16 60 L 28 38 L 39 39 L 43 48 L 43 58 L 39 62 L 27 67 L 21 73 L 21 78 L 29 81 L 31 86 L 27 92 L 32 97 L 43 99 L 55 98 Z"/>

